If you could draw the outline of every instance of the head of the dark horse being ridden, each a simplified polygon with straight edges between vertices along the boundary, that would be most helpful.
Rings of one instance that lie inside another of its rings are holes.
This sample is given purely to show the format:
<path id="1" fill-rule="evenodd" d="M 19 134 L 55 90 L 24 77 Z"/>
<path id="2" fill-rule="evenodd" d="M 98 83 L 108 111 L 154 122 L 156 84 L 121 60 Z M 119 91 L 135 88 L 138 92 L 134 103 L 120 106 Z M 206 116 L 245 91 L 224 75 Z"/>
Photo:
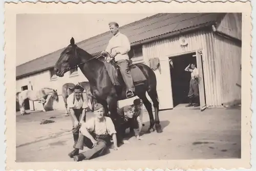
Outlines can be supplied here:
<path id="1" fill-rule="evenodd" d="M 55 64 L 54 72 L 56 76 L 63 77 L 67 71 L 80 62 L 77 56 L 77 48 L 75 40 L 72 37 L 70 44 L 61 52 L 60 57 Z"/>

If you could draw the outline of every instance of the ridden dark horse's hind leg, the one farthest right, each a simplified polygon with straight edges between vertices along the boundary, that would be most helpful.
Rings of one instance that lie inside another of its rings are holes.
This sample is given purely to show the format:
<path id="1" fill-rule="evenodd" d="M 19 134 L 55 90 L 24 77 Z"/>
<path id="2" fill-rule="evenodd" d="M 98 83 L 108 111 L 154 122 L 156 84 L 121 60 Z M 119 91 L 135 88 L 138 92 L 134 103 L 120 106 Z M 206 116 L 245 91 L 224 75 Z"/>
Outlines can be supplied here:
<path id="1" fill-rule="evenodd" d="M 157 91 L 154 89 L 154 90 L 148 91 L 147 93 L 150 96 L 153 102 L 153 106 L 155 108 L 155 122 L 156 122 L 157 133 L 161 133 L 163 132 L 163 130 L 161 128 L 160 120 L 159 120 L 159 102 L 157 99 Z"/>

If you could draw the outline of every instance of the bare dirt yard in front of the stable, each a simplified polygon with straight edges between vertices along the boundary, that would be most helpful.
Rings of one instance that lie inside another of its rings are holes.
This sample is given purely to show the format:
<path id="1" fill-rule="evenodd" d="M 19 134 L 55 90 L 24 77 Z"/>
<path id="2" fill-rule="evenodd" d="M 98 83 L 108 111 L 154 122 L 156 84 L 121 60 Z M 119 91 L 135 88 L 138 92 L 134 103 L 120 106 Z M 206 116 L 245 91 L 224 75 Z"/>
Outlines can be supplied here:
<path id="1" fill-rule="evenodd" d="M 16 162 L 73 161 L 71 116 L 64 111 L 32 112 L 16 116 Z M 241 157 L 241 109 L 215 108 L 201 112 L 177 108 L 160 111 L 162 133 L 144 134 L 143 140 L 130 138 L 118 151 L 92 160 L 171 160 Z M 55 123 L 40 125 L 42 119 Z M 87 113 L 87 118 L 93 113 Z M 149 126 L 144 113 L 143 132 Z M 87 150 L 87 148 L 84 148 Z"/>

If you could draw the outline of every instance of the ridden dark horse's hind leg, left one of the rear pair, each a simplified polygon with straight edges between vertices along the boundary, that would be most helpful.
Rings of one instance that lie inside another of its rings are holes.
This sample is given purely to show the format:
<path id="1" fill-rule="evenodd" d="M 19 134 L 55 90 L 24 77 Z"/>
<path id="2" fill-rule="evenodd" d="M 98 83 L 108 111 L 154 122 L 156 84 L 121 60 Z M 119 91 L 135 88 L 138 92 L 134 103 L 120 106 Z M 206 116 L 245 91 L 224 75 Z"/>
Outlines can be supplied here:
<path id="1" fill-rule="evenodd" d="M 144 106 L 146 107 L 147 113 L 150 116 L 150 128 L 148 128 L 148 132 L 153 132 L 155 131 L 154 125 L 155 125 L 155 120 L 154 120 L 154 115 L 152 111 L 152 104 L 150 101 L 148 101 L 146 97 L 146 92 L 138 94 L 138 97 L 142 100 Z"/>

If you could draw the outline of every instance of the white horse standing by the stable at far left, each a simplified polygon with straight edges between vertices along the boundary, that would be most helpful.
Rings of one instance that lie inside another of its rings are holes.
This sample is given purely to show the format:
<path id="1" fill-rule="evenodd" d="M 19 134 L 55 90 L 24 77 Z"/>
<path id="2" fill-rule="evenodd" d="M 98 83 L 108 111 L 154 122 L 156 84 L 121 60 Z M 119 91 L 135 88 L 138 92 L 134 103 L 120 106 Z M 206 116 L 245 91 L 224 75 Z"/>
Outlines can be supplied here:
<path id="1" fill-rule="evenodd" d="M 45 103 L 48 95 L 51 95 L 53 99 L 58 102 L 58 93 L 57 90 L 51 89 L 51 88 L 42 88 L 40 90 L 23 90 L 22 92 L 16 93 L 16 102 L 19 103 L 19 109 L 20 113 L 22 115 L 27 114 L 25 110 L 25 103 L 24 101 L 26 99 L 29 99 L 30 101 L 39 101 L 39 103 L 42 103 L 43 111 L 45 110 Z"/>

